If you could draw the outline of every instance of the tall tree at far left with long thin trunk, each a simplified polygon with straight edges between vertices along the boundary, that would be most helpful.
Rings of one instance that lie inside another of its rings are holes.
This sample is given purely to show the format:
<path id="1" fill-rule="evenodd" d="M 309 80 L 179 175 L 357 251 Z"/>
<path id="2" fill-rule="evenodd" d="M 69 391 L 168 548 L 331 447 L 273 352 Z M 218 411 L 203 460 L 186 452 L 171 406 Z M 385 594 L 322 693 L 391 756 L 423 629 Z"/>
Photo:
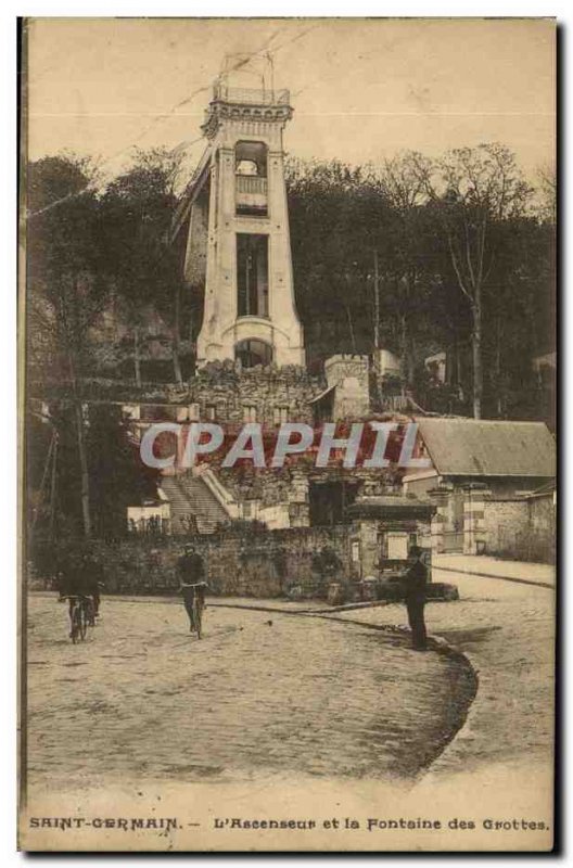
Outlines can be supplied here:
<path id="1" fill-rule="evenodd" d="M 94 179 L 89 161 L 65 154 L 31 163 L 27 178 L 28 342 L 41 329 L 52 362 L 43 375 L 51 372 L 71 383 L 86 536 L 91 512 L 81 380 L 90 359 L 87 335 L 107 290 Z"/>

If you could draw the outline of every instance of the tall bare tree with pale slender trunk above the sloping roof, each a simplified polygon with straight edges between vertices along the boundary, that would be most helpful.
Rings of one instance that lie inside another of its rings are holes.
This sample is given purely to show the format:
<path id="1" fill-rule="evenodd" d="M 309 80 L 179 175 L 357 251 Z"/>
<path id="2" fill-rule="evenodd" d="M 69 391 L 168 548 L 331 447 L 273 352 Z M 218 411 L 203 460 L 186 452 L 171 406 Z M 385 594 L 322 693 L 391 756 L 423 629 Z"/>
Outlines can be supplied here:
<path id="1" fill-rule="evenodd" d="M 472 316 L 473 416 L 482 417 L 483 292 L 495 256 L 495 228 L 523 214 L 531 195 L 515 157 L 501 144 L 449 151 L 438 161 L 412 155 L 447 242 L 457 284 Z"/>

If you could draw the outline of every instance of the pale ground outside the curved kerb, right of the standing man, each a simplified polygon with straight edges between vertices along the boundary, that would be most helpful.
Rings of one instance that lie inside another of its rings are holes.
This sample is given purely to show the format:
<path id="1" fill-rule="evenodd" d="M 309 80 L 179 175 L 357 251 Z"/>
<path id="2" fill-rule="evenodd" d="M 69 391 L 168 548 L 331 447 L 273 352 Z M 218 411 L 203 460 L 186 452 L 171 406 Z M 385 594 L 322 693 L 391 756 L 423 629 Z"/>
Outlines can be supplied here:
<path id="1" fill-rule="evenodd" d="M 512 580 L 454 572 L 454 558 L 435 564 L 435 580 L 457 585 L 460 599 L 429 603 L 425 621 L 430 634 L 443 637 L 472 663 L 479 688 L 469 719 L 454 743 L 432 767 L 433 775 L 466 775 L 498 766 L 500 775 L 523 771 L 530 778 L 537 768 L 550 776 L 553 739 L 555 582 L 550 566 L 494 559 L 463 558 L 466 571 L 483 569 Z M 489 563 L 487 563 L 489 562 Z M 450 572 L 451 571 L 451 572 Z M 539 580 L 546 585 L 521 584 Z M 375 625 L 403 623 L 399 607 L 353 611 L 343 618 Z M 501 770 L 502 769 L 502 770 Z"/>

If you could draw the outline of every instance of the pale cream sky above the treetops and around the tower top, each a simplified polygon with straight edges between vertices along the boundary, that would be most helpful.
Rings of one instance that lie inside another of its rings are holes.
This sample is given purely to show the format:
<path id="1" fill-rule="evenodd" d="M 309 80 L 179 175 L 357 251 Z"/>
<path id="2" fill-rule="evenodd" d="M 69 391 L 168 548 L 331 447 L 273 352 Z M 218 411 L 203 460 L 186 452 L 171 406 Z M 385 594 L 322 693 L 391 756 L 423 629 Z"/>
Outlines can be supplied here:
<path id="1" fill-rule="evenodd" d="M 471 18 L 34 18 L 28 155 L 120 173 L 133 148 L 183 146 L 189 171 L 226 54 L 272 55 L 293 156 L 380 162 L 499 141 L 534 178 L 555 159 L 555 25 Z"/>

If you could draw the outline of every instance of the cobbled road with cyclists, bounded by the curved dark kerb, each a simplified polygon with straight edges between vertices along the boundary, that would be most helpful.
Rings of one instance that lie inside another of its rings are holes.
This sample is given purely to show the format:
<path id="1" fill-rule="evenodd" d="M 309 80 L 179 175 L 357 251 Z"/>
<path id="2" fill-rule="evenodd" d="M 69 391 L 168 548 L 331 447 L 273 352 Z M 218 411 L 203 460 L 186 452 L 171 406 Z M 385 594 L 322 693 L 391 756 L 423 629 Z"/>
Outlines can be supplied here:
<path id="1" fill-rule="evenodd" d="M 280 774 L 412 780 L 469 701 L 459 661 L 355 624 L 209 607 L 199 641 L 180 604 L 107 599 L 73 646 L 66 617 L 55 597 L 30 598 L 30 792 Z"/>

